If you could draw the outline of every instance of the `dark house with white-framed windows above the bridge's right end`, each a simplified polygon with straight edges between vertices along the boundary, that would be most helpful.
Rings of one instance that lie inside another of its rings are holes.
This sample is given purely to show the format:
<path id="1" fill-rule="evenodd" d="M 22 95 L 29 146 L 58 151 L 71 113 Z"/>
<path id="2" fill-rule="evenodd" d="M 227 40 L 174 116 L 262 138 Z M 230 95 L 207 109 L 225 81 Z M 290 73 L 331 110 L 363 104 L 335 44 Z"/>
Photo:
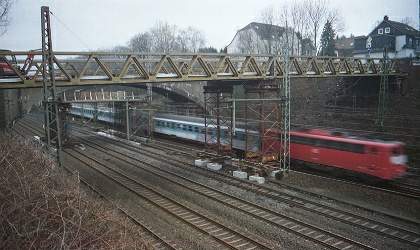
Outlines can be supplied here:
<path id="1" fill-rule="evenodd" d="M 420 31 L 385 16 L 367 36 L 354 38 L 354 57 L 383 57 L 387 49 L 390 58 L 420 56 Z"/>

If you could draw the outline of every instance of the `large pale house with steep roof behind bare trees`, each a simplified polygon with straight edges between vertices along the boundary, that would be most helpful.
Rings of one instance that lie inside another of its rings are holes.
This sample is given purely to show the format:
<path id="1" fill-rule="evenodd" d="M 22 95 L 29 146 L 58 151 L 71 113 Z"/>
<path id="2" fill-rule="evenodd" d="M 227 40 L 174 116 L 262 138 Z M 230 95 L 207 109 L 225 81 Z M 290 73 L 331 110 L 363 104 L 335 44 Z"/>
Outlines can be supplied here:
<path id="1" fill-rule="evenodd" d="M 310 39 L 302 39 L 293 29 L 257 22 L 238 30 L 226 49 L 227 53 L 281 54 L 287 40 L 290 55 L 315 54 Z"/>

